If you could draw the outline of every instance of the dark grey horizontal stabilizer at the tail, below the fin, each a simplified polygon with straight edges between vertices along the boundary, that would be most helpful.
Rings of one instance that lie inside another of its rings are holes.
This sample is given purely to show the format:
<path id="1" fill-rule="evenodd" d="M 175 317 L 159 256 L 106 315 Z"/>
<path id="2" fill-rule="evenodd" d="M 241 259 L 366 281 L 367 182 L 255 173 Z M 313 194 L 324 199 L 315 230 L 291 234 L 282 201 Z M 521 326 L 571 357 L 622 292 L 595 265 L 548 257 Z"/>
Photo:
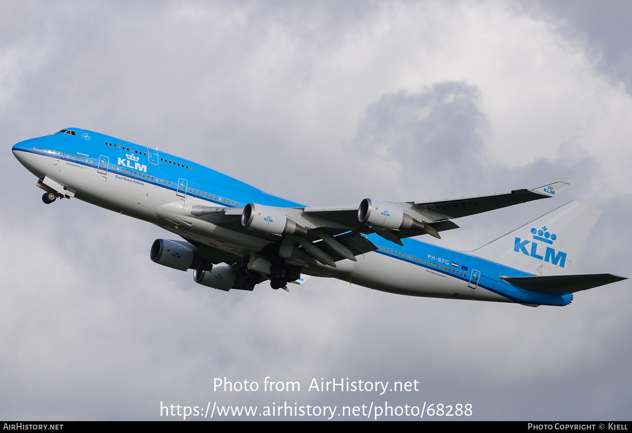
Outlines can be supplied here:
<path id="1" fill-rule="evenodd" d="M 516 287 L 549 295 L 566 295 L 628 279 L 612 274 L 501 276 L 501 278 Z"/>

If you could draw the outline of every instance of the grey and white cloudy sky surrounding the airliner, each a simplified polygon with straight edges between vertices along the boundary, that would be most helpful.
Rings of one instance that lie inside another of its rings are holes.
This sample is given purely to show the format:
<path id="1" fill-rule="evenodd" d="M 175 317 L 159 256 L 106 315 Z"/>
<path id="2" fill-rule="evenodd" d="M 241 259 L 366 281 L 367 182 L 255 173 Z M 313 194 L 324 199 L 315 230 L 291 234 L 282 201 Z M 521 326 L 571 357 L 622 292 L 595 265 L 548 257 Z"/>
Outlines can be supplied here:
<path id="1" fill-rule="evenodd" d="M 288 294 L 196 285 L 167 232 L 42 203 L 10 147 L 70 126 L 158 147 L 309 205 L 547 182 L 562 196 L 465 218 L 471 250 L 576 199 L 605 209 L 572 273 L 632 276 L 626 2 L 0 3 L 0 418 L 159 419 L 169 404 L 362 405 L 312 377 L 420 381 L 389 403 L 472 418 L 628 419 L 630 283 L 526 308 L 312 278 Z M 435 242 L 434 239 L 427 240 Z M 214 377 L 301 382 L 214 393 Z M 383 397 L 383 396 L 382 396 Z"/>

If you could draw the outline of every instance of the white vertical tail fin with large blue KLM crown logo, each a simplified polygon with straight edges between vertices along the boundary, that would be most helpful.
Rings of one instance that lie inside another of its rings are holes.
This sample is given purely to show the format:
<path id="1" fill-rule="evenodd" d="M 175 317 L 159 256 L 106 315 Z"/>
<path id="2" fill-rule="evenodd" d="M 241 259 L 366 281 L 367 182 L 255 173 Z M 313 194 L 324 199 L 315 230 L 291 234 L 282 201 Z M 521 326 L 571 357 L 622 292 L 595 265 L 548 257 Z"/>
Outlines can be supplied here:
<path id="1" fill-rule="evenodd" d="M 571 201 L 472 253 L 536 275 L 562 275 L 603 211 Z"/>

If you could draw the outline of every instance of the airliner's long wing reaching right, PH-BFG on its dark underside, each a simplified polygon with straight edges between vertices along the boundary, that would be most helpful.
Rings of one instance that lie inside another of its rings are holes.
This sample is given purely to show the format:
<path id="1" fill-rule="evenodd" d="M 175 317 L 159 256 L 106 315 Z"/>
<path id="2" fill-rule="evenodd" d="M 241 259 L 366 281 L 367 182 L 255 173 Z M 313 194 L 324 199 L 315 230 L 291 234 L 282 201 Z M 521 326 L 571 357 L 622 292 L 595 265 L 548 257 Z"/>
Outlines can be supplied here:
<path id="1" fill-rule="evenodd" d="M 258 247 L 253 246 L 255 251 L 266 244 L 279 243 L 281 256 L 292 257 L 296 255 L 293 248 L 298 245 L 302 248 L 300 251 L 307 252 L 308 256 L 321 263 L 335 266 L 334 263 L 340 259 L 355 260 L 355 256 L 377 248 L 365 235 L 377 234 L 400 246 L 402 245 L 401 239 L 422 234 L 430 234 L 441 239 L 439 232 L 459 228 L 458 225 L 450 221 L 452 218 L 465 217 L 526 201 L 551 197 L 566 186 L 568 184 L 564 182 L 556 182 L 535 189 L 518 189 L 506 193 L 404 203 L 365 199 L 357 206 L 270 208 L 250 203 L 245 208 L 193 205 L 190 210 L 185 210 L 177 206 L 174 208 L 173 204 L 164 205 L 162 208 L 165 212 L 168 211 L 167 208 L 173 208 L 173 213 L 184 211 L 186 214 L 190 212 L 188 215 L 196 219 L 205 220 L 231 230 L 231 232 L 257 237 L 263 243 Z M 255 218 L 253 216 L 255 213 L 257 218 L 264 218 L 261 211 L 253 211 L 255 207 L 263 211 L 265 215 L 271 216 L 261 222 L 264 224 L 261 227 L 249 228 L 250 223 Z M 360 221 L 359 215 L 363 212 L 373 212 L 374 217 L 371 217 L 373 219 Z M 247 217 L 250 218 L 248 224 L 243 223 L 242 214 L 250 215 Z M 391 214 L 396 215 L 396 217 L 392 217 L 394 218 L 393 222 L 385 223 L 384 218 L 391 217 Z M 176 220 L 187 225 L 193 224 L 193 220 L 183 220 L 181 217 L 165 218 L 176 224 L 178 224 Z M 283 222 L 285 228 L 268 229 L 269 222 L 279 220 L 288 221 L 287 225 Z M 191 236 L 189 235 L 189 237 Z M 203 237 L 193 240 L 207 243 Z M 284 249 L 284 245 L 288 246 L 287 250 Z M 223 245 L 214 247 L 228 251 L 227 247 Z M 237 255 L 243 254 L 241 251 L 229 252 Z M 215 257 L 217 251 L 209 251 L 208 254 L 211 262 L 219 259 Z M 299 259 L 305 261 L 305 257 Z"/>

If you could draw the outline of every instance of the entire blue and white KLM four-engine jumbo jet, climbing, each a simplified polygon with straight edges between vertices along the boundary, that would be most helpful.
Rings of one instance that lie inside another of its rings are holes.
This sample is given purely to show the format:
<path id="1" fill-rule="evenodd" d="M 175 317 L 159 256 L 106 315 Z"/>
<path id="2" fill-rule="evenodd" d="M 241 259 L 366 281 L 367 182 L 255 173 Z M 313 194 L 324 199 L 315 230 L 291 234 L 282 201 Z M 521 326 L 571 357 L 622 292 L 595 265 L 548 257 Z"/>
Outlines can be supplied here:
<path id="1" fill-rule="evenodd" d="M 438 200 L 363 199 L 313 207 L 279 198 L 184 158 L 80 128 L 21 141 L 13 154 L 37 177 L 44 203 L 76 198 L 154 223 L 150 258 L 219 290 L 262 282 L 288 290 L 308 276 L 394 294 L 567 305 L 574 292 L 624 280 L 565 275 L 602 210 L 571 201 L 474 251 L 412 239 L 452 220 L 549 198 L 568 184 Z"/>

